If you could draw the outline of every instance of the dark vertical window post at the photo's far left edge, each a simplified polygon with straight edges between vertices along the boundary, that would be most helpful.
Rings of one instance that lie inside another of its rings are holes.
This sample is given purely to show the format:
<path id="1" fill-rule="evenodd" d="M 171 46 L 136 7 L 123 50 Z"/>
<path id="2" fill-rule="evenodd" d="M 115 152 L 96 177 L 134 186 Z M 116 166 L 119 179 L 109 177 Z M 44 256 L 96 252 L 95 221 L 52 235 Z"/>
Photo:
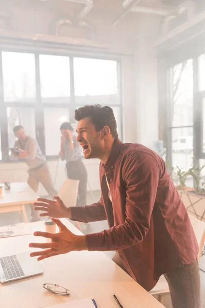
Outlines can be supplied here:
<path id="1" fill-rule="evenodd" d="M 7 107 L 4 102 L 2 51 L 0 51 L 0 125 L 1 125 L 2 160 L 7 161 L 9 159 L 8 119 L 7 119 Z"/>

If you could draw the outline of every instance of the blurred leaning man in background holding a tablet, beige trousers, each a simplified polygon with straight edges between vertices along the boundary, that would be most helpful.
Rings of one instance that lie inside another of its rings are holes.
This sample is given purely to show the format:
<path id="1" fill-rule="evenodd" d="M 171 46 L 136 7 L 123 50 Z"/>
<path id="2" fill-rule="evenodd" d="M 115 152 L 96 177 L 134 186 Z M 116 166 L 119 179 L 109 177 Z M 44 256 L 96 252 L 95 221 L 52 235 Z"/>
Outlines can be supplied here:
<path id="1" fill-rule="evenodd" d="M 48 195 L 53 198 L 57 195 L 57 191 L 54 189 L 51 175 L 48 165 L 46 163 L 46 157 L 42 154 L 37 140 L 30 136 L 26 136 L 23 126 L 17 125 L 13 128 L 15 137 L 18 139 L 14 144 L 14 149 L 11 151 L 10 160 L 24 160 L 29 166 L 28 184 L 37 192 L 39 182 L 45 187 Z M 31 205 L 31 221 L 39 220 L 39 216 L 33 210 Z"/>

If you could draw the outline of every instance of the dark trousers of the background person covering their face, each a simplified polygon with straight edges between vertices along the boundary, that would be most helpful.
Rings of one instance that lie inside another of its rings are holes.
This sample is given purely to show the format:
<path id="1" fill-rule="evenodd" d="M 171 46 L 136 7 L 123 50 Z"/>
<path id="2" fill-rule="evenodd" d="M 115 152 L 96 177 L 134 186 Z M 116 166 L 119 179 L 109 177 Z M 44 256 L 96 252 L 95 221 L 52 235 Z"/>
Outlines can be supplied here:
<path id="1" fill-rule="evenodd" d="M 87 171 L 84 163 L 79 159 L 66 164 L 68 179 L 79 180 L 77 206 L 86 205 Z"/>

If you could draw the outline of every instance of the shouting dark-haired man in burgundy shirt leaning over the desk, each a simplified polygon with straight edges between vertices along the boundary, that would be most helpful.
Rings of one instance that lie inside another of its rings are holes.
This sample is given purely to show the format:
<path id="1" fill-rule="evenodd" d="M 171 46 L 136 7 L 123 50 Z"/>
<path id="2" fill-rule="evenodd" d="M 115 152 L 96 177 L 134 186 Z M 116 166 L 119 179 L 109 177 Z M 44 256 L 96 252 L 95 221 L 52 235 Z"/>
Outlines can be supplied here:
<path id="1" fill-rule="evenodd" d="M 143 145 L 122 143 L 110 107 L 81 107 L 75 119 L 85 158 L 100 160 L 101 198 L 92 205 L 70 208 L 58 197 L 38 199 L 35 210 L 45 211 L 40 216 L 85 223 L 107 219 L 110 228 L 77 236 L 53 219 L 59 233 L 35 232 L 52 242 L 31 243 L 30 247 L 45 248 L 31 257 L 43 260 L 70 251 L 116 251 L 115 262 L 147 291 L 165 275 L 174 308 L 201 308 L 198 245 L 165 162 Z"/>

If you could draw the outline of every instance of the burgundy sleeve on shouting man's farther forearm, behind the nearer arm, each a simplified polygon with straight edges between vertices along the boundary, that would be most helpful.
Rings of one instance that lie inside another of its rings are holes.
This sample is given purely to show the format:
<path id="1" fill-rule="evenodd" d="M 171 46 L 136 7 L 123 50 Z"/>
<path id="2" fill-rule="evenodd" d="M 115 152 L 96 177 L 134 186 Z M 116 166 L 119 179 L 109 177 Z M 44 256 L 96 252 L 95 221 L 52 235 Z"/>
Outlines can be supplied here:
<path id="1" fill-rule="evenodd" d="M 102 196 L 96 203 L 86 206 L 72 206 L 70 207 L 70 210 L 71 220 L 87 223 L 107 219 Z"/>

